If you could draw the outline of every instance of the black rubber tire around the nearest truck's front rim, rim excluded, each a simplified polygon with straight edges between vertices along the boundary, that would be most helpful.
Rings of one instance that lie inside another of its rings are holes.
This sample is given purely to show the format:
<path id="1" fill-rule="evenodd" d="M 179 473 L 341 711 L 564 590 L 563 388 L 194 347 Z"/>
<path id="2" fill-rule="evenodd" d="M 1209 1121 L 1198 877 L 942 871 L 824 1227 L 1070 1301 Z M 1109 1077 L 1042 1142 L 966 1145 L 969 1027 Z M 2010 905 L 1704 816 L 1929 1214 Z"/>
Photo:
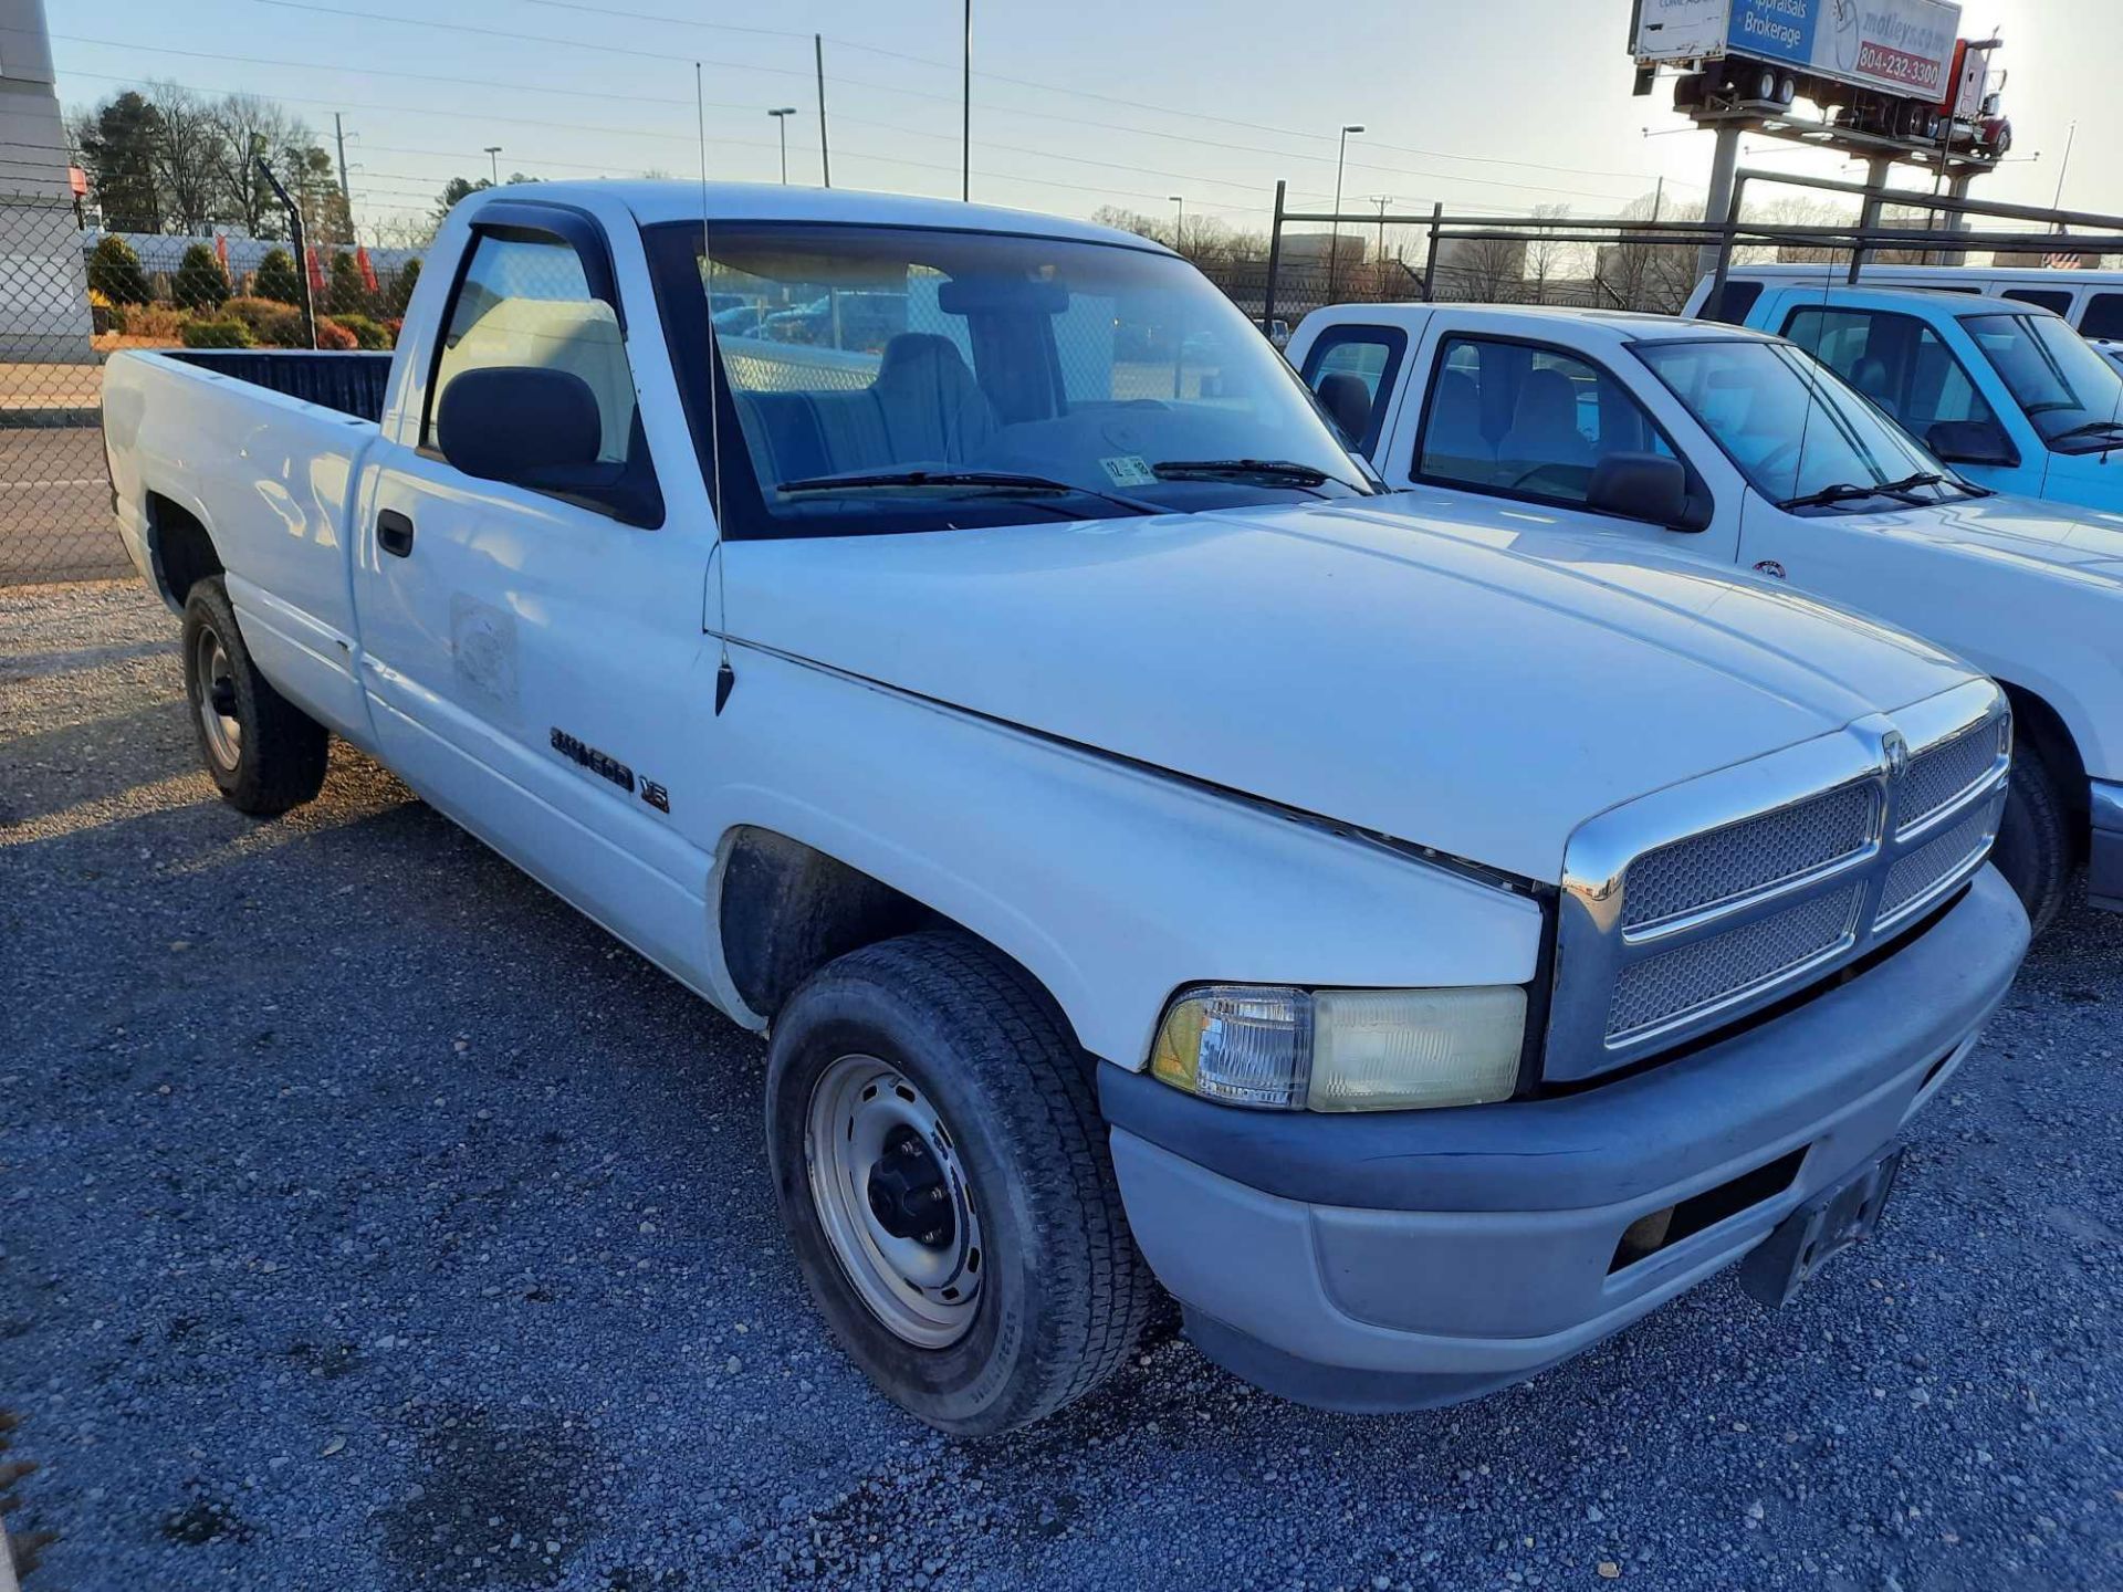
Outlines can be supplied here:
<path id="1" fill-rule="evenodd" d="M 934 1104 L 979 1212 L 979 1295 L 951 1344 L 887 1327 L 828 1238 L 811 1119 L 847 1057 L 875 1057 Z M 1040 1420 L 1136 1348 L 1159 1291 L 1121 1212 L 1085 1059 L 1025 974 L 981 942 L 909 934 L 815 972 L 775 1019 L 766 1146 L 813 1301 L 856 1365 L 930 1426 L 987 1437 Z"/>

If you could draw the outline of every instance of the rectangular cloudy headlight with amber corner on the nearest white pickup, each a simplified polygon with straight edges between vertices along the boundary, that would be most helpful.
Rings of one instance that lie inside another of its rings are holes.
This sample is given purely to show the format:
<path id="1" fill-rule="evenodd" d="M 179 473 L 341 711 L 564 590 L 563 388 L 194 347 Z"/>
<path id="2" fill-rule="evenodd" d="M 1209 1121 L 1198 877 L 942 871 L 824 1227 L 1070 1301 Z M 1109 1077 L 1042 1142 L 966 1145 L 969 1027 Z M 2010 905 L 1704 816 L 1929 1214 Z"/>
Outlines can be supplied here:
<path id="1" fill-rule="evenodd" d="M 1157 1025 L 1151 1072 L 1265 1110 L 1414 1110 L 1509 1100 L 1526 991 L 1202 985 Z"/>

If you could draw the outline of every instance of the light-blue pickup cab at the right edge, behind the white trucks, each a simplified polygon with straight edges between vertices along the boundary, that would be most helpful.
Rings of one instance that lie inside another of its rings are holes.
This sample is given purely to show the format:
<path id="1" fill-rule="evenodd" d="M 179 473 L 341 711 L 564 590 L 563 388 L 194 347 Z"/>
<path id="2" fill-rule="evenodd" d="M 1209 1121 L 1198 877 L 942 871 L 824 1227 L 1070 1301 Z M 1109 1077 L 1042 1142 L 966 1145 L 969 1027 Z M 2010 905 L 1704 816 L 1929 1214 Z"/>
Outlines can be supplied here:
<path id="1" fill-rule="evenodd" d="M 1977 486 L 2123 512 L 2123 369 L 2055 310 L 1921 289 L 1773 287 L 1790 338 Z"/>

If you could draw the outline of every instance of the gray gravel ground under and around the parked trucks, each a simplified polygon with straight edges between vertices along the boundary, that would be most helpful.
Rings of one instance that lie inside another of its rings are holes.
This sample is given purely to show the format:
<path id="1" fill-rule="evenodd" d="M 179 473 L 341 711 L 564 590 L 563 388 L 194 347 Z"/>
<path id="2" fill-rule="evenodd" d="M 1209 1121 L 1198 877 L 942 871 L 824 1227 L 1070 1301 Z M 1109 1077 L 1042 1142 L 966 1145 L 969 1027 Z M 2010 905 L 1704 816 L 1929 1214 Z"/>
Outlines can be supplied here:
<path id="1" fill-rule="evenodd" d="M 762 1049 L 335 751 L 214 800 L 174 622 L 0 592 L 0 1405 L 42 1588 L 2123 1584 L 2123 921 L 1881 1238 L 1531 1386 L 1304 1412 L 1183 1342 L 951 1443 L 828 1346 Z"/>

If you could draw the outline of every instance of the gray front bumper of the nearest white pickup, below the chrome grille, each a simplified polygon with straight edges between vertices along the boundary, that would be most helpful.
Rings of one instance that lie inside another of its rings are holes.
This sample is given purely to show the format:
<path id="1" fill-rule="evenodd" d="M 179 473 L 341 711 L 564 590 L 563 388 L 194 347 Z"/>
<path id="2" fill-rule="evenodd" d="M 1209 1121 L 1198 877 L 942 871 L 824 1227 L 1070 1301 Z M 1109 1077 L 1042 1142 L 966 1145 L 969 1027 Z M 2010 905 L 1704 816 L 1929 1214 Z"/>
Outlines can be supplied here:
<path id="1" fill-rule="evenodd" d="M 1554 1100 L 1321 1119 L 1106 1066 L 1127 1218 L 1189 1335 L 1250 1382 L 1342 1409 L 1475 1397 L 1730 1265 L 1879 1155 L 1974 1049 L 2025 947 L 2019 900 L 1983 868 L 1849 983 Z M 1792 1153 L 1775 1197 L 1616 1269 L 1639 1216 Z"/>

